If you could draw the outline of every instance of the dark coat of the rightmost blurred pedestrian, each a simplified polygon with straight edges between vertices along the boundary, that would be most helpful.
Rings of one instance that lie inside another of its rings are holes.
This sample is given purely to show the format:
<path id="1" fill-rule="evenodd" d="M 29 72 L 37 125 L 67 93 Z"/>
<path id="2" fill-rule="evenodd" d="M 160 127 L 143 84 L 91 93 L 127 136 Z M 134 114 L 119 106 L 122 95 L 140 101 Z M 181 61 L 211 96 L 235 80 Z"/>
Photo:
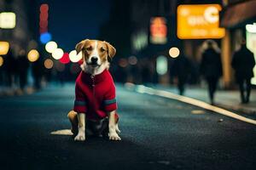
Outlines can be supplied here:
<path id="1" fill-rule="evenodd" d="M 235 70 L 237 80 L 253 77 L 255 60 L 253 53 L 245 45 L 234 54 L 231 65 Z"/>

